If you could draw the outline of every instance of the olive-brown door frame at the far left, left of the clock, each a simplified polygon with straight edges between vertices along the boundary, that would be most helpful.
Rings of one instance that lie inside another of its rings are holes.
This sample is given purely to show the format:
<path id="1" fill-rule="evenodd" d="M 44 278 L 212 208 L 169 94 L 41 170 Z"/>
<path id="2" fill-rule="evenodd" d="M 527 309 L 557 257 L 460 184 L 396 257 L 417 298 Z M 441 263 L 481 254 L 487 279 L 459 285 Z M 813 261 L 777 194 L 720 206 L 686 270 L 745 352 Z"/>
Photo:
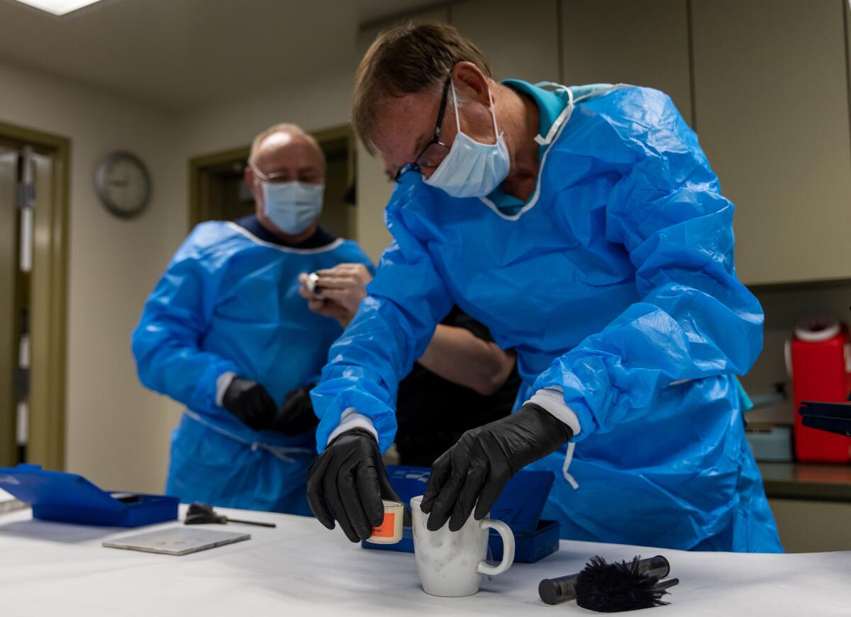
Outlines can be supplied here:
<path id="1" fill-rule="evenodd" d="M 33 236 L 37 238 L 33 242 L 33 266 L 41 266 L 43 271 L 33 270 L 31 278 L 33 311 L 30 316 L 30 391 L 37 392 L 38 404 L 32 404 L 31 396 L 26 462 L 62 470 L 65 467 L 66 449 L 71 140 L 37 129 L 0 122 L 0 143 L 21 150 L 29 146 L 32 151 L 51 157 L 54 163 L 50 198 L 38 204 L 39 209 L 49 209 L 49 214 L 35 216 L 33 221 Z"/>

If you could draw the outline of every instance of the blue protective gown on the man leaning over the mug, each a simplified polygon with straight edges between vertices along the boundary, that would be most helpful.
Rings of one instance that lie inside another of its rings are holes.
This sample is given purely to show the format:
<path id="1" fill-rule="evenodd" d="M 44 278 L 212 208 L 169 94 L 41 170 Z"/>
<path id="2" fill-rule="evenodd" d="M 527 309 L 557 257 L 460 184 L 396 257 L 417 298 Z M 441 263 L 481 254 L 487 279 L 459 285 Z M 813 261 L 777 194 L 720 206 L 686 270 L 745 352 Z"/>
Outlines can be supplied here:
<path id="1" fill-rule="evenodd" d="M 563 538 L 782 551 L 734 378 L 762 349 L 762 308 L 736 278 L 734 206 L 697 136 L 653 89 L 572 106 L 511 85 L 542 125 L 542 101 L 563 110 L 541 131 L 533 196 L 500 209 L 396 187 L 394 242 L 312 393 L 320 448 L 347 408 L 390 445 L 397 381 L 455 303 L 517 350 L 519 403 L 556 388 L 580 421 L 530 466 L 556 472 L 545 517 Z"/>

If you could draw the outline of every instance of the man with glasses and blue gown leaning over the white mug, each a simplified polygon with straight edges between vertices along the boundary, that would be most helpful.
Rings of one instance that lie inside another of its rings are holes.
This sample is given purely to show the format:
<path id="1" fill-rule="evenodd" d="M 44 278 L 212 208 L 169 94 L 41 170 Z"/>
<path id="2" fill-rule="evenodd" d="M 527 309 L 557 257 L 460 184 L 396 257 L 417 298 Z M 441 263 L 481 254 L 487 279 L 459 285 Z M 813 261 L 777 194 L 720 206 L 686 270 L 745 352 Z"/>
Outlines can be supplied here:
<path id="1" fill-rule="evenodd" d="M 495 82 L 451 26 L 380 35 L 353 122 L 397 169 L 394 242 L 311 392 L 308 499 L 350 540 L 392 496 L 398 380 L 453 305 L 517 351 L 517 411 L 432 466 L 428 526 L 485 517 L 528 466 L 563 538 L 782 551 L 740 386 L 762 308 L 734 268 L 734 206 L 671 100 L 619 84 Z"/>

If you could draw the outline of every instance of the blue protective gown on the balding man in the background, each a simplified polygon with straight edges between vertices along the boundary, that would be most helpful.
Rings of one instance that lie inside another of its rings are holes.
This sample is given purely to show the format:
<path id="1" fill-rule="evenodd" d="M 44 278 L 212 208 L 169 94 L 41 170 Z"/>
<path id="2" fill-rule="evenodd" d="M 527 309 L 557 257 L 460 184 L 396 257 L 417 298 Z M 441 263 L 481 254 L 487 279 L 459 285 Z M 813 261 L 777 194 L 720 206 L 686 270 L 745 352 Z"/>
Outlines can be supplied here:
<path id="1" fill-rule="evenodd" d="M 318 380 L 342 328 L 307 308 L 300 272 L 372 265 L 348 240 L 317 249 L 261 241 L 234 223 L 197 226 L 148 298 L 133 334 L 142 383 L 186 405 L 172 436 L 168 494 L 184 502 L 310 515 L 313 431 L 254 431 L 216 404 L 216 380 L 256 380 L 277 404 Z"/>

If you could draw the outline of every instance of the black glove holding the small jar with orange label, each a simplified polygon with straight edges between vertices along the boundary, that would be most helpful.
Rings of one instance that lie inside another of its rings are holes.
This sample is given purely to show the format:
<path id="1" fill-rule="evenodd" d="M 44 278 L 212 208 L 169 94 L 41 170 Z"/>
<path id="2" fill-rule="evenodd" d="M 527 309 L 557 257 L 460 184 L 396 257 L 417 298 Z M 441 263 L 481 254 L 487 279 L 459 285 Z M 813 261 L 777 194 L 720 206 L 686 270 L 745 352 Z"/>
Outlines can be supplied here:
<path id="1" fill-rule="evenodd" d="M 366 540 L 384 520 L 382 499 L 401 501 L 390 485 L 372 433 L 355 428 L 328 443 L 307 471 L 307 501 L 328 529 L 334 518 L 352 542 Z"/>

